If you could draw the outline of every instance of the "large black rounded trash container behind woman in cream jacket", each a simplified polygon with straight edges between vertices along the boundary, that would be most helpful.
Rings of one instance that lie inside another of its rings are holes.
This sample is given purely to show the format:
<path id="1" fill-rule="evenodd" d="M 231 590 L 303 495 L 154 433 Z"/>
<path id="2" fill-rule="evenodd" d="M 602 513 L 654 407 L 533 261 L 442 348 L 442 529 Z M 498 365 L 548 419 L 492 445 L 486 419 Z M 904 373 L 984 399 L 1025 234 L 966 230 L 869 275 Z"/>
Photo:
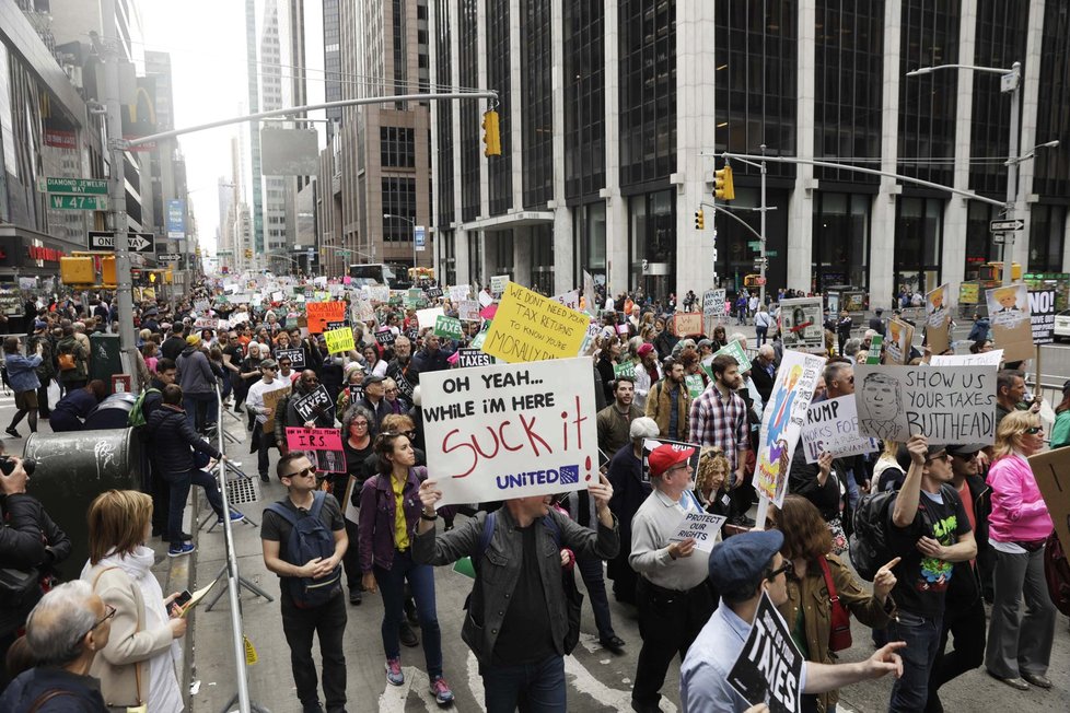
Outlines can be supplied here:
<path id="1" fill-rule="evenodd" d="M 132 429 L 35 433 L 26 440 L 24 458 L 37 461 L 27 492 L 71 539 L 71 554 L 57 570 L 77 580 L 89 559 L 85 513 L 106 490 L 140 490 L 141 443 Z"/>

